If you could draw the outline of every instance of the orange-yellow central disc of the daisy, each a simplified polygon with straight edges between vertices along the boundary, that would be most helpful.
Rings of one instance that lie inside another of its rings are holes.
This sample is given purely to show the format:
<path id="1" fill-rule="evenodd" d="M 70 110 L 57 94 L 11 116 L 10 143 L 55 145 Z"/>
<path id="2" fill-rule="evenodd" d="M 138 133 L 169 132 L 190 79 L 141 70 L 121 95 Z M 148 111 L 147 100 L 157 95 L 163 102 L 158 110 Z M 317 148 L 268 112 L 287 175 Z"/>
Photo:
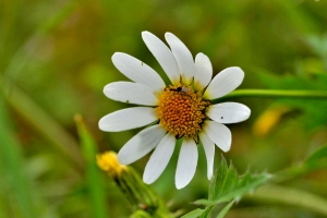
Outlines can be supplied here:
<path id="1" fill-rule="evenodd" d="M 160 124 L 177 138 L 194 137 L 202 129 L 209 105 L 191 86 L 169 86 L 159 98 L 157 114 Z"/>

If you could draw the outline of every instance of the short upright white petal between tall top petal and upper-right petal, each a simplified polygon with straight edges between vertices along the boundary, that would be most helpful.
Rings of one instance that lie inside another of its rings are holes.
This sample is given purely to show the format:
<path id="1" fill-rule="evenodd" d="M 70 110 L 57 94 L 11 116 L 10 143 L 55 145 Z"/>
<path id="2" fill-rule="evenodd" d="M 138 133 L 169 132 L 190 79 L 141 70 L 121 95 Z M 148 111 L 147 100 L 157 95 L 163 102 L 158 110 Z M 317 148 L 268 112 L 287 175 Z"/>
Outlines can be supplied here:
<path id="1" fill-rule="evenodd" d="M 201 90 L 205 88 L 213 77 L 213 65 L 209 58 L 204 53 L 197 53 L 195 57 L 194 86 Z"/>

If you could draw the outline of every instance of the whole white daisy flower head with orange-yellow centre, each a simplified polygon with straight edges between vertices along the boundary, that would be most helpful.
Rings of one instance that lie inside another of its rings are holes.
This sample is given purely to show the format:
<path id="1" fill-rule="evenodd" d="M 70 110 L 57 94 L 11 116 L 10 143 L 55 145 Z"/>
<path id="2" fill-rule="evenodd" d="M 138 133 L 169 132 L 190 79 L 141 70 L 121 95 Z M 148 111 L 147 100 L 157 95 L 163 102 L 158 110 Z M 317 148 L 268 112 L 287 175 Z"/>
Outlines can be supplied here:
<path id="1" fill-rule="evenodd" d="M 246 120 L 251 110 L 238 102 L 213 105 L 235 89 L 244 72 L 232 66 L 214 80 L 210 60 L 197 53 L 195 61 L 186 46 L 173 34 L 166 33 L 170 49 L 155 35 L 143 32 L 142 38 L 167 73 L 171 84 L 144 62 L 121 52 L 112 56 L 116 68 L 133 82 L 116 82 L 104 93 L 113 100 L 141 105 L 105 116 L 102 131 L 119 132 L 149 125 L 132 137 L 119 152 L 118 159 L 129 165 L 153 149 L 143 174 L 147 184 L 155 182 L 167 167 L 178 138 L 183 137 L 175 171 L 175 186 L 186 186 L 197 165 L 197 145 L 202 142 L 207 159 L 207 177 L 213 175 L 215 144 L 223 152 L 231 147 L 231 132 L 225 125 Z M 155 123 L 155 124 L 154 124 Z"/>

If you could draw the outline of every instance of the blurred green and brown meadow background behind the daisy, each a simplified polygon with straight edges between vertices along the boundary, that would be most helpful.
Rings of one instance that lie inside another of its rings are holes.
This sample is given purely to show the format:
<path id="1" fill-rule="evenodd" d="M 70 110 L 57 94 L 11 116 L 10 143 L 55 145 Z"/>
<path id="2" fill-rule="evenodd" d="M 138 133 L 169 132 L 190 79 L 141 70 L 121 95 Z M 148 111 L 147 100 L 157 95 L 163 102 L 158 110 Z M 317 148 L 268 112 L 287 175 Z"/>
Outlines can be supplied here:
<path id="1" fill-rule="evenodd" d="M 173 33 L 194 57 L 207 55 L 215 73 L 242 68 L 245 78 L 240 88 L 327 89 L 326 9 L 325 0 L 1 0 L 0 217 L 131 214 L 114 182 L 92 165 L 85 167 L 95 150 L 81 147 L 74 116 L 83 116 L 99 152 L 118 152 L 140 131 L 105 133 L 97 123 L 126 107 L 102 94 L 106 84 L 126 81 L 111 62 L 116 51 L 144 61 L 165 76 L 142 40 L 142 31 L 162 40 L 166 32 Z M 250 120 L 228 125 L 233 143 L 225 157 L 241 174 L 249 168 L 280 171 L 327 144 L 326 100 L 230 100 L 252 109 Z M 207 197 L 206 160 L 199 148 L 193 181 L 177 191 L 178 150 L 152 186 L 172 211 L 186 213 L 195 208 L 190 202 Z M 220 154 L 216 149 L 215 166 Z M 147 159 L 132 166 L 142 174 Z M 325 161 L 282 184 L 326 198 L 326 169 Z M 90 171 L 99 178 L 90 181 Z M 94 199 L 89 193 L 97 184 Z M 227 217 L 322 215 L 245 198 Z"/>

